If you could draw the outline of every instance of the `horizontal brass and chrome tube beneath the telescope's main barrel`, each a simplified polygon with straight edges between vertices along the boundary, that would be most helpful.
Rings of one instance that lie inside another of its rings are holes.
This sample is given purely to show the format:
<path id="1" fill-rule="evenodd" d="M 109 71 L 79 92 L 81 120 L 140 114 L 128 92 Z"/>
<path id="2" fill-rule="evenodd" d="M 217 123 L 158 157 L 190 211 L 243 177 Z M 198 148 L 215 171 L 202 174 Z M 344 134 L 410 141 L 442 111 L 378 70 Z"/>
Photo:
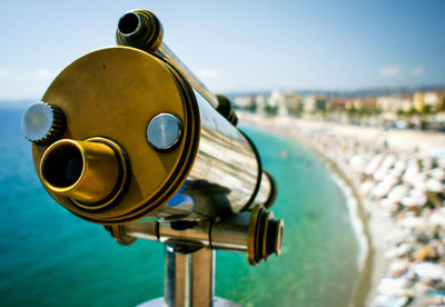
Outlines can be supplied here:
<path id="1" fill-rule="evenodd" d="M 257 205 L 251 212 L 231 214 L 221 220 L 137 221 L 107 226 L 106 229 L 122 245 L 140 238 L 246 252 L 249 264 L 255 266 L 261 259 L 267 260 L 273 252 L 280 255 L 284 222 Z"/>

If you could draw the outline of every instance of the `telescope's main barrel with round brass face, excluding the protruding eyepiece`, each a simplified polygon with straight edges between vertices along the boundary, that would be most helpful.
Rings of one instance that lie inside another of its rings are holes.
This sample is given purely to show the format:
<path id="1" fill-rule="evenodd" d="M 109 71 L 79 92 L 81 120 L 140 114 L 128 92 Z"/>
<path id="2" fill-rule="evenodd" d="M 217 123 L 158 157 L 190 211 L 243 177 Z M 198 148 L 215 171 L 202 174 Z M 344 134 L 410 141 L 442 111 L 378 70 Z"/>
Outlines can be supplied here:
<path id="1" fill-rule="evenodd" d="M 42 175 L 51 196 L 83 219 L 208 219 L 271 199 L 274 185 L 254 145 L 162 58 L 129 47 L 93 51 L 67 67 L 43 100 L 68 119 L 62 139 L 100 137 L 127 158 L 128 185 L 112 201 L 99 201 L 100 210 L 53 189 Z M 47 150 L 33 143 L 38 170 Z"/>

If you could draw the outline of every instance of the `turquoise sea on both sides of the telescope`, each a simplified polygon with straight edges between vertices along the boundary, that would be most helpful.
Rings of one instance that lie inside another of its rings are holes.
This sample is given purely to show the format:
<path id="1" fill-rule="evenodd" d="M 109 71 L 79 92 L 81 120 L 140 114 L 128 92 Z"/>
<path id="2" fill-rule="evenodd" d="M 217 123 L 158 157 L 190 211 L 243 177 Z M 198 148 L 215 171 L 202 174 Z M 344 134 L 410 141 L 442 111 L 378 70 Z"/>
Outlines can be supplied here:
<path id="1" fill-rule="evenodd" d="M 161 296 L 164 246 L 120 246 L 53 201 L 19 131 L 22 112 L 0 110 L 0 306 L 134 306 Z M 273 210 L 285 219 L 284 249 L 257 267 L 218 251 L 217 296 L 243 306 L 346 306 L 359 247 L 342 190 L 306 148 L 243 130 L 277 180 Z"/>

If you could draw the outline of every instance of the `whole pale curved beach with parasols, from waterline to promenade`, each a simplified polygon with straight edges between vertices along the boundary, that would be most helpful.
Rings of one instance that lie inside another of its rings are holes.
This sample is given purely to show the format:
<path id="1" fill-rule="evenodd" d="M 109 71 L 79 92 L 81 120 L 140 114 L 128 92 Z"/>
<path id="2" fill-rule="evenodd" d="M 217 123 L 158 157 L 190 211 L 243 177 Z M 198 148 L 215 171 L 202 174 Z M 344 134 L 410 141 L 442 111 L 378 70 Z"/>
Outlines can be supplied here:
<path id="1" fill-rule="evenodd" d="M 362 246 L 352 306 L 444 306 L 445 135 L 239 117 L 309 147 L 344 190 Z"/>

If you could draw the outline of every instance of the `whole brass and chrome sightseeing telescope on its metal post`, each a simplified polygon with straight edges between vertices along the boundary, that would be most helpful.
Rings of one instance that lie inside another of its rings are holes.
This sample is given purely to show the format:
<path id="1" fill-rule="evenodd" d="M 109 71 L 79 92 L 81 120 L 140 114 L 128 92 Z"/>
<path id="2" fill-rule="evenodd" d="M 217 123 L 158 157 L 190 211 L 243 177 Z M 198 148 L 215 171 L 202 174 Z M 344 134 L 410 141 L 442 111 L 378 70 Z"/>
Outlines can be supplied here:
<path id="1" fill-rule="evenodd" d="M 214 299 L 215 249 L 250 265 L 280 252 L 274 179 L 229 100 L 162 43 L 155 14 L 127 12 L 116 40 L 68 66 L 24 113 L 36 170 L 60 205 L 118 242 L 166 244 L 165 304 L 227 303 Z"/>

